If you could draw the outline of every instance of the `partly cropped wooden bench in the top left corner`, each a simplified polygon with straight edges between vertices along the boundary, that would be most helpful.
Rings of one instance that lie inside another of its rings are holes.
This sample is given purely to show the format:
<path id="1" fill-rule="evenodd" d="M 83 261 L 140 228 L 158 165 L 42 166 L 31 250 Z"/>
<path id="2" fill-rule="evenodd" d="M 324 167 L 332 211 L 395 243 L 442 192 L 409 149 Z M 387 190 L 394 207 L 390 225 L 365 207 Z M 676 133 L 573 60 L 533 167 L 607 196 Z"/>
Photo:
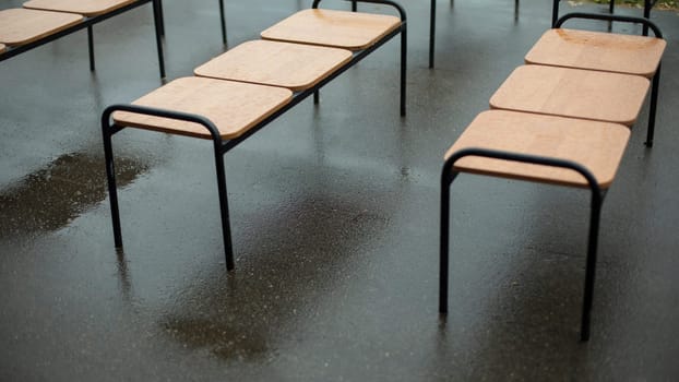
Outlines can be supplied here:
<path id="1" fill-rule="evenodd" d="M 162 0 L 29 0 L 23 9 L 0 11 L 0 61 L 87 28 L 90 70 L 95 70 L 93 26 L 120 13 L 152 3 L 160 77 L 165 77 Z M 219 0 L 222 39 L 226 44 L 224 3 Z"/>

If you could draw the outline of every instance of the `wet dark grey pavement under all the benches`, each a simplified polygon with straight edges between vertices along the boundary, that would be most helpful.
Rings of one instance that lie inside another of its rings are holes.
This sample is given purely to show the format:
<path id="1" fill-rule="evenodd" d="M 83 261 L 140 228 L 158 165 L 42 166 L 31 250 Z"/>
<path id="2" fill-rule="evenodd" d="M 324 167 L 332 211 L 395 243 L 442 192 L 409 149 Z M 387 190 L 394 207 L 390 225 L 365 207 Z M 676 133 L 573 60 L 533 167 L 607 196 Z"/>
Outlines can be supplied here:
<path id="1" fill-rule="evenodd" d="M 549 1 L 439 1 L 433 70 L 429 1 L 403 5 L 407 117 L 391 41 L 226 155 L 230 273 L 205 141 L 116 135 L 114 248 L 98 119 L 162 84 L 150 7 L 95 27 L 95 73 L 84 32 L 1 62 L 0 381 L 678 380 L 677 13 L 653 13 L 668 40 L 656 144 L 644 107 L 604 204 L 582 344 L 582 190 L 456 181 L 437 312 L 442 155 L 549 27 Z M 228 46 L 306 7 L 227 0 Z M 168 80 L 224 50 L 215 1 L 164 8 Z"/>

